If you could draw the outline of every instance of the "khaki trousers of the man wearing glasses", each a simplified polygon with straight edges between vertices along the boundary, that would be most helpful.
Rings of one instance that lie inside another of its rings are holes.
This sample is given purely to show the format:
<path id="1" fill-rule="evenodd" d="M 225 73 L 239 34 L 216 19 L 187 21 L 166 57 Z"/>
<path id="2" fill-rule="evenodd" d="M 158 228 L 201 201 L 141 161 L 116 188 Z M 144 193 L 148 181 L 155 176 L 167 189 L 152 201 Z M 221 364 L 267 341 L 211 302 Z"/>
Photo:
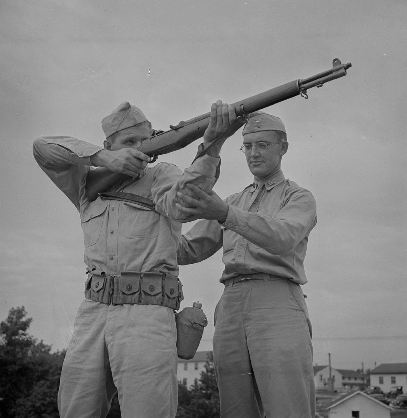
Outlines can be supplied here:
<path id="1" fill-rule="evenodd" d="M 226 286 L 213 336 L 221 418 L 314 418 L 311 332 L 298 284 Z"/>

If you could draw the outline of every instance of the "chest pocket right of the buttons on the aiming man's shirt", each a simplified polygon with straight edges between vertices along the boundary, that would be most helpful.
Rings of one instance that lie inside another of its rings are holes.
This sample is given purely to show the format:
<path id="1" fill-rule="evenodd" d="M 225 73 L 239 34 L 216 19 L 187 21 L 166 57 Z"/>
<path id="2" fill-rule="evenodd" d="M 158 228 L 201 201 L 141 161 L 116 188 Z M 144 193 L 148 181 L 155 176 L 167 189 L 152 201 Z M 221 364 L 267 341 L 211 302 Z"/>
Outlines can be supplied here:
<path id="1" fill-rule="evenodd" d="M 156 238 L 160 232 L 160 214 L 140 205 L 123 202 L 124 234 L 128 238 Z"/>

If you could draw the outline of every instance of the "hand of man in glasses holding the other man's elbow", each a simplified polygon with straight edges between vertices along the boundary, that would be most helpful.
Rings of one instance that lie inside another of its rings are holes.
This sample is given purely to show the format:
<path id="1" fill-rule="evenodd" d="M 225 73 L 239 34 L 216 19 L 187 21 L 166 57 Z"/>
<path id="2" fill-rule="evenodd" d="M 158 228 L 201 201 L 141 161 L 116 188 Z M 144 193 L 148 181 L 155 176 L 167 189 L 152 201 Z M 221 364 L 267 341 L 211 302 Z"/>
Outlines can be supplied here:
<path id="1" fill-rule="evenodd" d="M 185 220 L 179 222 L 191 222 L 196 219 L 216 219 L 221 223 L 226 221 L 229 205 L 213 190 L 205 193 L 192 183 L 188 183 L 187 187 L 194 192 L 197 199 L 187 196 L 181 191 L 177 193 L 177 199 L 180 203 L 175 203 L 175 206 L 185 215 Z"/>

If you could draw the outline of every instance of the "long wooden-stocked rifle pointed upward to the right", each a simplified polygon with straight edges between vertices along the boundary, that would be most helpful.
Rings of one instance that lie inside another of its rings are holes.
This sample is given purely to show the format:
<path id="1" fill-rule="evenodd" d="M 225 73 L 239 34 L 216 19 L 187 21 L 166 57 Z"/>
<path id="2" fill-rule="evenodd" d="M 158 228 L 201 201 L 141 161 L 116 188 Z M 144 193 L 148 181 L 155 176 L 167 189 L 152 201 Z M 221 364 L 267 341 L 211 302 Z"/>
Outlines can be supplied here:
<path id="1" fill-rule="evenodd" d="M 233 103 L 232 105 L 235 108 L 236 115 L 248 115 L 251 112 L 264 109 L 264 107 L 271 106 L 272 104 L 291 99 L 291 97 L 297 96 L 298 94 L 308 99 L 308 89 L 322 87 L 328 81 L 346 76 L 346 70 L 352 66 L 350 62 L 348 64 L 342 64 L 337 58 L 333 60 L 332 64 L 331 69 L 316 74 L 315 76 L 294 80 Z M 170 129 L 165 132 L 156 131 L 154 136 L 141 143 L 138 150 L 152 157 L 151 162 L 154 162 L 159 155 L 179 150 L 191 142 L 202 138 L 205 129 L 209 125 L 209 121 L 210 112 L 186 121 L 182 120 L 178 125 L 170 125 Z M 123 182 L 129 178 L 131 177 L 127 174 L 114 173 L 105 167 L 94 168 L 87 173 L 86 195 L 89 200 L 95 200 L 99 193 L 110 189 L 113 184 L 120 180 Z"/>

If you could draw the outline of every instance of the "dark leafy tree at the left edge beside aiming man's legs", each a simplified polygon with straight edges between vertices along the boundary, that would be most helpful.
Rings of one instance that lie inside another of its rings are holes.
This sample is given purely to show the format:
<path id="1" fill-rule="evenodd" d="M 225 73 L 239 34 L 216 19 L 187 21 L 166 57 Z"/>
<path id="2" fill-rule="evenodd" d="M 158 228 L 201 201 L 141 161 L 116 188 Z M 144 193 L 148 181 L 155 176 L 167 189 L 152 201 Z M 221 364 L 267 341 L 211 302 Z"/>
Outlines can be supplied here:
<path id="1" fill-rule="evenodd" d="M 27 330 L 32 322 L 22 307 L 11 308 L 0 323 L 0 416 L 58 418 L 59 375 L 65 352 L 51 353 Z"/>

